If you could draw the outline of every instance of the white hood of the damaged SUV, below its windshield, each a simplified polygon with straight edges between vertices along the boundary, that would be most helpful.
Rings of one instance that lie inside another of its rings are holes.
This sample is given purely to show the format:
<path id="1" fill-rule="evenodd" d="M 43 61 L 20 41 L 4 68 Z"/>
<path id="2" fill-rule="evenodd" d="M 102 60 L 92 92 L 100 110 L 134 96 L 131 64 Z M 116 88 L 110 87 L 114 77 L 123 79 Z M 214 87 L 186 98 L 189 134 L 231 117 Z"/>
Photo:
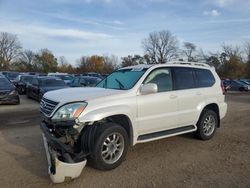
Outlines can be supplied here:
<path id="1" fill-rule="evenodd" d="M 105 89 L 98 87 L 77 87 L 50 91 L 45 93 L 44 97 L 52 101 L 68 103 L 74 101 L 88 101 L 91 99 L 120 94 L 123 92 L 123 90 Z"/>

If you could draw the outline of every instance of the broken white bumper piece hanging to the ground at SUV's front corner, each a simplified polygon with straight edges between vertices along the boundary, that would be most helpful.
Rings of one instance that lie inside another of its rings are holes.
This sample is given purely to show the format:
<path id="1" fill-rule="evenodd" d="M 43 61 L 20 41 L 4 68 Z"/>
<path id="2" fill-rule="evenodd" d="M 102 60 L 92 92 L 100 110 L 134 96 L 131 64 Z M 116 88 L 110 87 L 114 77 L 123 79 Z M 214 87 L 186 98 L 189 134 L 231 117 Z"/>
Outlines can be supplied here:
<path id="1" fill-rule="evenodd" d="M 50 175 L 51 180 L 54 183 L 62 183 L 66 179 L 75 179 L 79 177 L 87 163 L 87 160 L 78 163 L 65 163 L 63 161 L 60 161 L 55 155 L 55 152 L 53 152 L 49 148 L 45 135 L 42 135 L 48 160 L 48 173 Z"/>

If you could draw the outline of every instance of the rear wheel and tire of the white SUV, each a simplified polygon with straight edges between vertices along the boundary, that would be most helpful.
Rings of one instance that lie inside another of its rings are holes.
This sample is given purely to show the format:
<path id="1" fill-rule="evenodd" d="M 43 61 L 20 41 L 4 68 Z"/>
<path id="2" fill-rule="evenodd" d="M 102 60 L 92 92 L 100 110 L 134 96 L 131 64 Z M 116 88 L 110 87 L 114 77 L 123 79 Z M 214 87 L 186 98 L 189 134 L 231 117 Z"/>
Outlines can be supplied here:
<path id="1" fill-rule="evenodd" d="M 201 140 L 211 139 L 218 127 L 218 115 L 210 109 L 204 109 L 197 123 L 195 135 Z"/>

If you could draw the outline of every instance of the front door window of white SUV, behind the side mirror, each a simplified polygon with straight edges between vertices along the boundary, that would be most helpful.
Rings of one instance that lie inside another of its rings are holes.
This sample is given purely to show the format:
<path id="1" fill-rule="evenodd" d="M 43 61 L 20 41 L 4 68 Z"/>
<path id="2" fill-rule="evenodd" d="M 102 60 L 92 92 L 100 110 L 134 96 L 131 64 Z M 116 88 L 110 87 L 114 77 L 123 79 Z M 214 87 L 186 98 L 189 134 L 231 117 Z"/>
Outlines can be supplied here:
<path id="1" fill-rule="evenodd" d="M 171 91 L 172 75 L 169 68 L 162 68 L 153 70 L 144 81 L 144 84 L 154 83 L 158 86 L 158 92 Z"/>

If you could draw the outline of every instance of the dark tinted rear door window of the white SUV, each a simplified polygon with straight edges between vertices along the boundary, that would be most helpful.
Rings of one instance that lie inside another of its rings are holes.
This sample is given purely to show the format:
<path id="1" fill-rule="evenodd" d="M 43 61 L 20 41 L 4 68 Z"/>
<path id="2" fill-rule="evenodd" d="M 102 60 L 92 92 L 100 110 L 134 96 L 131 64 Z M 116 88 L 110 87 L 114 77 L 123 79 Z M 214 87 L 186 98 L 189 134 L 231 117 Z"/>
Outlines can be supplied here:
<path id="1" fill-rule="evenodd" d="M 175 89 L 195 88 L 193 70 L 191 68 L 174 68 Z"/>

